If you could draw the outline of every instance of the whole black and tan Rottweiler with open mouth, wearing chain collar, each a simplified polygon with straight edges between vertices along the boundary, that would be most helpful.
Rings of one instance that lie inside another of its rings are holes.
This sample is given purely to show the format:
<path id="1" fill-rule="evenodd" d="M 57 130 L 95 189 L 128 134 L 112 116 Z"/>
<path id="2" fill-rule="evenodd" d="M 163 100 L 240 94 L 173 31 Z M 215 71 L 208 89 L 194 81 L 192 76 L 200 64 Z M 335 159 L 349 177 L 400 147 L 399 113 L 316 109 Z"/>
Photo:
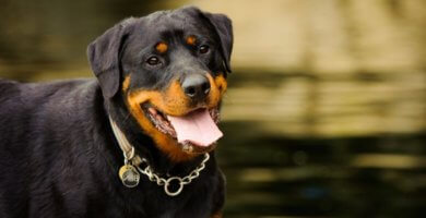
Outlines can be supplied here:
<path id="1" fill-rule="evenodd" d="M 221 217 L 232 47 L 229 19 L 182 8 L 92 43 L 97 80 L 0 80 L 0 217 Z"/>

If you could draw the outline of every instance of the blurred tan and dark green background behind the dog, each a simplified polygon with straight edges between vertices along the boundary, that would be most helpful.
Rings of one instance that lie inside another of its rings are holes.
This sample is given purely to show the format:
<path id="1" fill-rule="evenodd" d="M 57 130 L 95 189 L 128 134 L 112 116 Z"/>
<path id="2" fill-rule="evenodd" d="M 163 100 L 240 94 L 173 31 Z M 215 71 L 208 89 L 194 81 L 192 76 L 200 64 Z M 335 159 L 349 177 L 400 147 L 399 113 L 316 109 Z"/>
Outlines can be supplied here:
<path id="1" fill-rule="evenodd" d="M 225 217 L 424 217 L 425 0 L 0 3 L 0 77 L 23 82 L 92 76 L 87 44 L 131 15 L 227 14 Z"/>

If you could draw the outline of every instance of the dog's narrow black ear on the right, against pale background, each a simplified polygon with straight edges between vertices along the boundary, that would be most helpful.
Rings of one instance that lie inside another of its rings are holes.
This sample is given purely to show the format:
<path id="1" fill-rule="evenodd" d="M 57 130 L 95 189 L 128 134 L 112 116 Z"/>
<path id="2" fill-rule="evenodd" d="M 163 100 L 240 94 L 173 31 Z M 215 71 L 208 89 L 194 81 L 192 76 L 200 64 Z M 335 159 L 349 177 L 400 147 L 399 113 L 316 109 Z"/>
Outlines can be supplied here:
<path id="1" fill-rule="evenodd" d="M 230 53 L 233 52 L 234 44 L 234 33 L 233 24 L 229 17 L 224 14 L 212 14 L 204 12 L 203 15 L 215 28 L 218 38 L 221 39 L 221 50 L 222 56 L 225 60 L 225 70 L 232 72 L 230 70 Z"/>

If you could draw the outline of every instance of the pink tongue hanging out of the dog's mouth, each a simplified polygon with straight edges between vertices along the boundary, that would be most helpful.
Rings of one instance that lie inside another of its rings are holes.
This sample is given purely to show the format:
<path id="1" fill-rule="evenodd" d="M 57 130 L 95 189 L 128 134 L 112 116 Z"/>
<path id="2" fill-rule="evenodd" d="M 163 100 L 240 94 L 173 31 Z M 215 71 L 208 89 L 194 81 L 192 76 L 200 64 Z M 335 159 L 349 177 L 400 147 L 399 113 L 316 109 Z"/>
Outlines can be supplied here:
<path id="1" fill-rule="evenodd" d="M 175 128 L 179 143 L 190 142 L 206 147 L 223 135 L 206 109 L 193 111 L 185 117 L 167 118 Z"/>

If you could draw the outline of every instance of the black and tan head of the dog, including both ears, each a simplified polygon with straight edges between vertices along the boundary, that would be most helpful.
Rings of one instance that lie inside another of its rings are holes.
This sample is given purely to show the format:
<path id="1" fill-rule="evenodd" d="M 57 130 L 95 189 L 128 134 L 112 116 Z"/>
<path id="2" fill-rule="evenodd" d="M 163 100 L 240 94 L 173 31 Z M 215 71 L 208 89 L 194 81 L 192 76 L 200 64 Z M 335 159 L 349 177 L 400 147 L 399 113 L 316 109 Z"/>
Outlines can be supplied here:
<path id="1" fill-rule="evenodd" d="M 214 148 L 232 46 L 229 19 L 184 8 L 125 20 L 87 55 L 104 98 L 120 94 L 155 144 L 184 160 Z"/>

